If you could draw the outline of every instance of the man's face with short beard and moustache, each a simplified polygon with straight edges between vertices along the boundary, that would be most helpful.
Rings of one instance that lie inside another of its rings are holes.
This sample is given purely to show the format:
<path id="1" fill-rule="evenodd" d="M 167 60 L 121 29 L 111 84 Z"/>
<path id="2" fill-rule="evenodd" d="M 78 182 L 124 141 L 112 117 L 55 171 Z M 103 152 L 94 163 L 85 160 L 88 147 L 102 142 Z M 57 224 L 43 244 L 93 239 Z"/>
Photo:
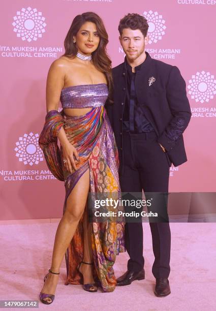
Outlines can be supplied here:
<path id="1" fill-rule="evenodd" d="M 148 39 L 147 37 L 144 38 L 140 29 L 124 28 L 119 41 L 127 58 L 134 61 L 144 52 Z"/>

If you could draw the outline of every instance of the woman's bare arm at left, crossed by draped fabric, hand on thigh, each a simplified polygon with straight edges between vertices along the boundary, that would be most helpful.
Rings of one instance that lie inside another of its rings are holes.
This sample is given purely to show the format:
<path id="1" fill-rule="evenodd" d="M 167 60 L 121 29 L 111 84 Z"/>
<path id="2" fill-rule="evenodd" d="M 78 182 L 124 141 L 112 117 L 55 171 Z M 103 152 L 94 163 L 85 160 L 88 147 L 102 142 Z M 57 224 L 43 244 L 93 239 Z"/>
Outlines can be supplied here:
<path id="1" fill-rule="evenodd" d="M 47 112 L 50 110 L 58 110 L 61 89 L 63 89 L 65 81 L 65 66 L 66 65 L 64 64 L 64 61 L 60 59 L 53 61 L 52 65 L 50 66 L 46 83 Z M 72 166 L 76 170 L 74 156 L 76 157 L 76 160 L 79 161 L 78 152 L 76 148 L 69 142 L 63 127 L 61 127 L 59 130 L 58 139 L 63 148 L 64 159 L 67 161 L 65 163 L 65 167 L 69 172 L 72 173 Z"/>

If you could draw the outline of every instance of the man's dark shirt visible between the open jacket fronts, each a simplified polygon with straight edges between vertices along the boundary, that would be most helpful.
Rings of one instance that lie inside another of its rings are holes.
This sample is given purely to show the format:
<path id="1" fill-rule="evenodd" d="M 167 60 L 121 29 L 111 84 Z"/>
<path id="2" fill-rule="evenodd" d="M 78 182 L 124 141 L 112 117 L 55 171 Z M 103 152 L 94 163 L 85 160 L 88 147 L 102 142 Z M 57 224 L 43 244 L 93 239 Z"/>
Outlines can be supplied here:
<path id="1" fill-rule="evenodd" d="M 123 114 L 123 130 L 136 134 L 154 131 L 153 127 L 146 119 L 138 103 L 135 89 L 136 72 L 141 69 L 143 63 L 140 64 L 139 66 L 136 66 L 135 72 L 132 72 L 132 67 L 128 64 L 128 61 L 126 59 L 127 86 L 126 86 L 126 103 Z"/>

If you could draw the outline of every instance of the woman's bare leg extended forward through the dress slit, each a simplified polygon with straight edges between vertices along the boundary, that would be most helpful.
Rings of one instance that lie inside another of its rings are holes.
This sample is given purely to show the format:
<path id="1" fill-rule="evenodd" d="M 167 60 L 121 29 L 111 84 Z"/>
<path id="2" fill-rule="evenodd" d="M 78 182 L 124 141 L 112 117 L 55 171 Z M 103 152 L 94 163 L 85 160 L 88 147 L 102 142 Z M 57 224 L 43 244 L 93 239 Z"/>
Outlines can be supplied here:
<path id="1" fill-rule="evenodd" d="M 84 212 L 88 191 L 89 169 L 80 177 L 79 181 L 70 193 L 65 213 L 58 224 L 53 246 L 52 264 L 50 268 L 52 272 L 59 272 L 61 262 L 63 261 L 67 248 Z M 42 292 L 54 295 L 57 282 L 58 274 L 49 273 Z"/>

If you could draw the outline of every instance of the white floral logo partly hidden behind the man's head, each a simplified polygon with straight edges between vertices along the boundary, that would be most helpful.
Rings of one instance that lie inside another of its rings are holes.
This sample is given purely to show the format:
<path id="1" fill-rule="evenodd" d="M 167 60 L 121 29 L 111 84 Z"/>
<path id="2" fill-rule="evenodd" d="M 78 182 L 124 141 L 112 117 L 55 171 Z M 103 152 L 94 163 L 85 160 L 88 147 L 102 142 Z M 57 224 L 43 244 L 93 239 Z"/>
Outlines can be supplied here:
<path id="1" fill-rule="evenodd" d="M 162 15 L 159 15 L 158 12 L 144 12 L 143 17 L 147 19 L 148 22 L 148 43 L 156 43 L 158 40 L 162 39 L 162 36 L 165 35 L 164 30 L 166 29 L 165 20 Z"/>

